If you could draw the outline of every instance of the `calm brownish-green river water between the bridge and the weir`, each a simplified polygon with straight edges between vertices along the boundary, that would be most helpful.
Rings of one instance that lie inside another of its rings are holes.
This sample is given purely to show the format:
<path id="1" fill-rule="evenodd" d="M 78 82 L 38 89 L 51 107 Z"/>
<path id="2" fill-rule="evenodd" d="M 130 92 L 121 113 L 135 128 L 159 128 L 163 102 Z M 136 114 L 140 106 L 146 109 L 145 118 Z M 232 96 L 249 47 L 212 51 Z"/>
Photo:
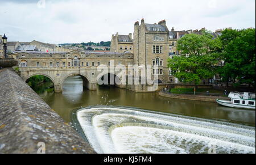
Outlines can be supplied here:
<path id="1" fill-rule="evenodd" d="M 79 76 L 67 78 L 63 88 L 63 93 L 44 92 L 40 96 L 66 122 L 71 121 L 72 109 L 89 105 L 124 105 L 255 126 L 255 111 L 222 107 L 217 103 L 163 98 L 156 93 L 136 93 L 115 87 L 83 91 L 82 79 Z"/>

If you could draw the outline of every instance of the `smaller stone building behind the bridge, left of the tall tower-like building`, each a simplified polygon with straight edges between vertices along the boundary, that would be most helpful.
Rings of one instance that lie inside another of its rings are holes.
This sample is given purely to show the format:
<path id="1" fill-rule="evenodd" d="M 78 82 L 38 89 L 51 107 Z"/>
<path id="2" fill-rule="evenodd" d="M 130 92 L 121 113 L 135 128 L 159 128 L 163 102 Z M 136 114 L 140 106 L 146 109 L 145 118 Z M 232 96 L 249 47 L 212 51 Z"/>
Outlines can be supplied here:
<path id="1" fill-rule="evenodd" d="M 125 53 L 125 52 L 133 53 L 133 37 L 132 34 L 129 35 L 112 35 L 110 52 L 117 53 Z"/>

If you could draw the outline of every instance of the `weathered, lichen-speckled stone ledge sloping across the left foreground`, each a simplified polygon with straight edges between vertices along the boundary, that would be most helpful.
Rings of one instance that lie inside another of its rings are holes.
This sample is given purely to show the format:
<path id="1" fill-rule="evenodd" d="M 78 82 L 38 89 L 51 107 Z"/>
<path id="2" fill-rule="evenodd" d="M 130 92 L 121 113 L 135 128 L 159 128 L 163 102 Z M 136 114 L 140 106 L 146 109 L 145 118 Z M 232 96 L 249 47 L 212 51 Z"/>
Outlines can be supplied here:
<path id="1" fill-rule="evenodd" d="M 22 79 L 0 70 L 0 153 L 95 153 Z"/>

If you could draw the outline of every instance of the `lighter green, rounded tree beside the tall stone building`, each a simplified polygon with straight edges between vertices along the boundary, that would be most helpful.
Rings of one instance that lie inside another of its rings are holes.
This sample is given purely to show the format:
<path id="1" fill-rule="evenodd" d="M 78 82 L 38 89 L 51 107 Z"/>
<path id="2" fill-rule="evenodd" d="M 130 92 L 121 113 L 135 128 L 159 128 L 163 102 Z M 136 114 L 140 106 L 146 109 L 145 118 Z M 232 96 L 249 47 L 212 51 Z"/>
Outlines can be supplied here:
<path id="1" fill-rule="evenodd" d="M 195 83 L 197 86 L 203 79 L 213 77 L 220 41 L 213 40 L 210 32 L 185 35 L 178 41 L 177 49 L 181 55 L 170 58 L 168 67 L 179 81 Z"/>

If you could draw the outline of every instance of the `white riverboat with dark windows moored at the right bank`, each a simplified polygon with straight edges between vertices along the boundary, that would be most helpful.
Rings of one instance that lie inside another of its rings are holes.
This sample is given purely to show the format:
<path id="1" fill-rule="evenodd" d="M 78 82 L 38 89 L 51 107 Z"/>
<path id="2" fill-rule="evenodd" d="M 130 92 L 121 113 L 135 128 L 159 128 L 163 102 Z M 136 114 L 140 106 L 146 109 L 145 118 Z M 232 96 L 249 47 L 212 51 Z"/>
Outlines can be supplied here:
<path id="1" fill-rule="evenodd" d="M 232 108 L 254 109 L 255 110 L 255 93 L 247 92 L 230 92 L 231 100 L 216 100 L 218 104 Z"/>

